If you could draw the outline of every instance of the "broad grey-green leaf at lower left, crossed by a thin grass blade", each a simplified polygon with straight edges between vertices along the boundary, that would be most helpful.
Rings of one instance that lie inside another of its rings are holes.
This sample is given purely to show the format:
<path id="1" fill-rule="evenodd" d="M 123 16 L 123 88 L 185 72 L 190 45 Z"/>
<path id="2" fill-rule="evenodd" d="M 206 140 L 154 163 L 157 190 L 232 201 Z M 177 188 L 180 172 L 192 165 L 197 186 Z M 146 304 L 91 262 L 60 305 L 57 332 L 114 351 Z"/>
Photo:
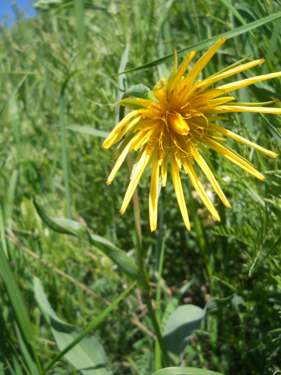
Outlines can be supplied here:
<path id="1" fill-rule="evenodd" d="M 53 310 L 45 296 L 40 280 L 34 277 L 34 293 L 40 309 L 49 325 L 60 350 L 71 343 L 82 329 L 62 321 Z M 99 341 L 85 336 L 75 347 L 64 356 L 76 369 L 84 375 L 108 375 L 105 368 L 105 351 Z"/>

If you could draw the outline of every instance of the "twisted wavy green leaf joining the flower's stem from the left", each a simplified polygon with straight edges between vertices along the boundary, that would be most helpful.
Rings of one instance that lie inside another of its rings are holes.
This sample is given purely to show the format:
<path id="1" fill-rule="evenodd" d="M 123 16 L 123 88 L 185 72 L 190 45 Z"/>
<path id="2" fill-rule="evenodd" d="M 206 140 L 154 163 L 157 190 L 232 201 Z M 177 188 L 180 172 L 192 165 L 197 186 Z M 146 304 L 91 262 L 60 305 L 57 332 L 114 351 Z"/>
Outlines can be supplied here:
<path id="1" fill-rule="evenodd" d="M 107 239 L 96 234 L 89 234 L 87 228 L 75 220 L 66 218 L 51 217 L 44 211 L 43 207 L 33 198 L 36 210 L 43 220 L 51 229 L 59 233 L 73 234 L 88 241 L 91 245 L 101 250 L 107 255 L 131 280 L 138 279 L 142 288 L 149 290 L 149 286 L 144 277 L 139 275 L 138 268 L 132 259 L 121 249 L 114 246 Z"/>

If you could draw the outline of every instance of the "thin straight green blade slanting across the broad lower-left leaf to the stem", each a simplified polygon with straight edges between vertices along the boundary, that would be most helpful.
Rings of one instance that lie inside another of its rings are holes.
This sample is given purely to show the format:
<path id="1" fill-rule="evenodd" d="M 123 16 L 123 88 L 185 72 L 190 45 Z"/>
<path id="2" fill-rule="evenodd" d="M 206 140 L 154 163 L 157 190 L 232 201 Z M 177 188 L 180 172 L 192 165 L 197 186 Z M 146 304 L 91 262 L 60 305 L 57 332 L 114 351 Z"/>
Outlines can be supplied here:
<path id="1" fill-rule="evenodd" d="M 98 324 L 100 324 L 106 316 L 113 310 L 113 308 L 119 304 L 119 302 L 131 291 L 133 286 L 136 284 L 137 280 L 135 280 L 129 288 L 121 294 L 120 297 L 115 299 L 114 302 L 111 303 L 106 309 L 95 319 L 93 320 L 86 329 L 84 329 L 80 335 L 76 337 L 75 340 L 73 340 L 70 344 L 68 344 L 50 363 L 49 365 L 41 372 L 41 375 L 44 375 L 50 368 L 53 367 L 53 365 L 61 359 L 62 356 L 64 356 L 67 351 L 71 350 L 75 345 L 77 345 L 85 336 L 87 336 L 93 329 L 97 327 Z"/>

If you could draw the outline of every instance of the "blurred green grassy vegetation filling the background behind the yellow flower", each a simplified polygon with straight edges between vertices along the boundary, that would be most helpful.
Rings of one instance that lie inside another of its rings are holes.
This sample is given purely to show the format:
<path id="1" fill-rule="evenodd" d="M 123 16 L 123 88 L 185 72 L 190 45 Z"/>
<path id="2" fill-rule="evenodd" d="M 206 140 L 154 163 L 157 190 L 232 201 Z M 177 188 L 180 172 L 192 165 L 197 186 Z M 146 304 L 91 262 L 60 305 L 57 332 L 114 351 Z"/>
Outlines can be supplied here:
<path id="1" fill-rule="evenodd" d="M 272 0 L 87 0 L 82 9 L 72 1 L 40 0 L 36 6 L 36 17 L 24 19 L 17 11 L 11 27 L 0 27 L 0 241 L 26 301 L 36 352 L 45 366 L 59 350 L 34 298 L 33 275 L 40 279 L 58 316 L 81 328 L 97 317 L 108 301 L 118 297 L 129 281 L 99 250 L 46 227 L 32 195 L 55 217 L 67 216 L 67 202 L 71 202 L 75 220 L 86 223 L 93 233 L 107 238 L 134 259 L 132 205 L 123 216 L 119 213 L 128 170 L 123 165 L 112 185 L 106 186 L 114 150 L 104 150 L 101 145 L 104 132 L 114 126 L 111 104 L 120 95 L 120 85 L 143 83 L 152 88 L 167 75 L 171 63 L 129 73 L 121 79 L 106 77 L 119 69 L 123 71 L 125 65 L 127 69 L 137 67 L 172 53 L 173 47 L 180 50 L 274 14 L 281 4 Z M 280 71 L 280 26 L 281 21 L 276 20 L 227 40 L 204 69 L 203 77 L 248 55 L 249 59 L 266 58 L 266 63 L 245 73 L 248 76 Z M 277 78 L 256 84 L 252 90 L 241 89 L 237 99 L 281 99 L 280 88 L 281 80 Z M 65 145 L 61 141 L 62 113 Z M 270 133 L 269 125 L 257 114 L 233 114 L 225 126 L 280 155 L 280 121 L 275 115 L 267 119 L 275 133 L 272 128 Z M 200 307 L 211 295 L 225 301 L 193 333 L 184 365 L 227 375 L 273 374 L 281 370 L 280 247 L 261 260 L 274 244 L 278 245 L 281 162 L 280 158 L 269 159 L 235 141 L 227 142 L 266 175 L 265 182 L 213 153 L 212 169 L 232 205 L 224 209 L 214 196 L 222 222 L 214 222 L 189 178 L 182 174 L 192 230 L 185 229 L 172 182 L 168 181 L 160 195 L 159 229 L 151 233 L 147 169 L 138 188 L 145 269 L 155 292 L 165 237 L 161 307 L 173 296 L 179 304 Z M 62 157 L 65 149 L 68 200 Z M 212 193 L 206 181 L 205 186 Z M 27 249 L 33 253 L 27 253 Z M 190 280 L 190 288 L 183 295 L 177 294 Z M 1 279 L 0 315 L 0 374 L 10 371 L 4 361 L 5 351 L 17 375 L 15 351 L 21 356 L 18 333 Z M 151 373 L 152 331 L 144 301 L 135 290 L 93 333 L 104 346 L 110 373 Z M 21 370 L 25 371 L 23 367 Z M 70 374 L 76 370 L 62 359 L 51 372 Z"/>

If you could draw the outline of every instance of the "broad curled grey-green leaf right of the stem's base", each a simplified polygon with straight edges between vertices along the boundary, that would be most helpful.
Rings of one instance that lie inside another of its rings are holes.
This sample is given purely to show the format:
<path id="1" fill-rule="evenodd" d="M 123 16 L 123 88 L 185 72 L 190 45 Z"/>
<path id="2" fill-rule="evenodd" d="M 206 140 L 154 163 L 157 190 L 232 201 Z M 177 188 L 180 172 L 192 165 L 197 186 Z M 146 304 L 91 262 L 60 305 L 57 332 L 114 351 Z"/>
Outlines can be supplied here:
<path id="1" fill-rule="evenodd" d="M 203 308 L 191 304 L 177 307 L 170 315 L 163 332 L 163 339 L 168 354 L 175 364 L 181 363 L 191 334 L 195 329 L 200 328 L 204 316 Z"/>

